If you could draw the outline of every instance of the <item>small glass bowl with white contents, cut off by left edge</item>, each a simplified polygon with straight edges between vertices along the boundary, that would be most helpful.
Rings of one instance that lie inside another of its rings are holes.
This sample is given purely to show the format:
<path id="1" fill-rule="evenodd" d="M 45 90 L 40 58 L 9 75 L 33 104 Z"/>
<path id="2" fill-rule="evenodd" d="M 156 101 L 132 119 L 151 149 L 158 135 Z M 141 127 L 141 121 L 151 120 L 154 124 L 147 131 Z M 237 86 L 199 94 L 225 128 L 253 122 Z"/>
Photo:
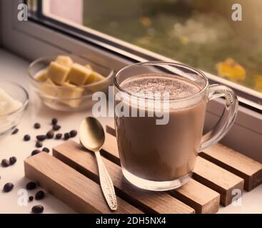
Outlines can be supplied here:
<path id="1" fill-rule="evenodd" d="M 3 137 L 4 135 L 13 132 L 19 124 L 21 117 L 29 104 L 29 94 L 17 83 L 0 82 L 0 88 L 15 100 L 19 100 L 22 104 L 19 109 L 14 110 L 13 112 L 0 115 L 0 137 Z"/>

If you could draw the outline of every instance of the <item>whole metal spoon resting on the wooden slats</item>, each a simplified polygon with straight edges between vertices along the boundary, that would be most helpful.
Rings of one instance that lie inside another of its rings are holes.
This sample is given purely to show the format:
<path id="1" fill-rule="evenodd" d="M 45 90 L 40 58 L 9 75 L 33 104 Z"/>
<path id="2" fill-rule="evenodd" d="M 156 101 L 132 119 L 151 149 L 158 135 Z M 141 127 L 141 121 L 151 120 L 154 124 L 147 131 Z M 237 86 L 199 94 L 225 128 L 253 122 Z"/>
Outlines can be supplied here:
<path id="1" fill-rule="evenodd" d="M 110 209 L 116 210 L 117 202 L 114 185 L 99 152 L 105 141 L 104 128 L 99 120 L 96 120 L 96 118 L 93 117 L 88 117 L 82 120 L 79 133 L 81 144 L 84 145 L 86 149 L 93 151 L 96 155 L 96 161 L 99 165 L 100 184 L 104 197 L 106 198 L 106 202 L 109 204 Z"/>

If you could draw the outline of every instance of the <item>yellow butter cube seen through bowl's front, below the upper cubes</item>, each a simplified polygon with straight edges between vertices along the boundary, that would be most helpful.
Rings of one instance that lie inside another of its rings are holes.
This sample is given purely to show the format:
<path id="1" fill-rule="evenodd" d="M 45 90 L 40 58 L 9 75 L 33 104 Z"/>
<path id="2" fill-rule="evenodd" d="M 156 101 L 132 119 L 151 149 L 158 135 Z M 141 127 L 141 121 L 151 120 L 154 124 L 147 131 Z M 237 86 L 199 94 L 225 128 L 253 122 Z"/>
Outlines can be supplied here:
<path id="1" fill-rule="evenodd" d="M 59 98 L 61 98 L 61 103 L 77 108 L 81 103 L 81 99 L 74 98 L 80 98 L 83 93 L 84 88 L 79 88 L 71 83 L 64 83 L 63 87 L 60 88 Z"/>

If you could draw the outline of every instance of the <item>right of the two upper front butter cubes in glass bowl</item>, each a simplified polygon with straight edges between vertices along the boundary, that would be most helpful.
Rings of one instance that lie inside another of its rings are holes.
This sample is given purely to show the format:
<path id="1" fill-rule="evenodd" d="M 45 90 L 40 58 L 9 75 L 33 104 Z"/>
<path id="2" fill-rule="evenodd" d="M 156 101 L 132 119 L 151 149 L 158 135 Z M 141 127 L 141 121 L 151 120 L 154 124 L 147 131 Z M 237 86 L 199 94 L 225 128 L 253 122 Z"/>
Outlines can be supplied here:
<path id="1" fill-rule="evenodd" d="M 83 86 L 91 72 L 89 68 L 81 66 L 79 63 L 74 63 L 69 71 L 68 79 L 70 83 L 76 86 Z"/>

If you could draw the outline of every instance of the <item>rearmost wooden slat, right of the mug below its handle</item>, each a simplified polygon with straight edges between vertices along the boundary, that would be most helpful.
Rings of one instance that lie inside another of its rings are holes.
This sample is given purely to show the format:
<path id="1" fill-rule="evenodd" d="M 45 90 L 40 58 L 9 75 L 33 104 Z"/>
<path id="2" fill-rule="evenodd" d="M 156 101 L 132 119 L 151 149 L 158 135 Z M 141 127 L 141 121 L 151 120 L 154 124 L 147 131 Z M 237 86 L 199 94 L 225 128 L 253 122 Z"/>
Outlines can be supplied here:
<path id="1" fill-rule="evenodd" d="M 200 156 L 242 177 L 247 191 L 262 183 L 262 164 L 224 145 L 213 145 L 201 152 Z"/>

